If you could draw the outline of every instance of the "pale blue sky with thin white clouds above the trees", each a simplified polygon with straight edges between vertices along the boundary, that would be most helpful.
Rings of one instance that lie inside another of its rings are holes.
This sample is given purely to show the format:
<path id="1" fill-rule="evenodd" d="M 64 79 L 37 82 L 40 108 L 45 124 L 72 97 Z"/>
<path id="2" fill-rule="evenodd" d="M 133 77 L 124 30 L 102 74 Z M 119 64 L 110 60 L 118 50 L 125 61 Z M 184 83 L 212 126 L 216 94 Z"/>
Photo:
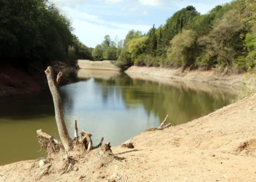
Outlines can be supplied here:
<path id="1" fill-rule="evenodd" d="M 192 5 L 206 14 L 231 0 L 51 0 L 72 20 L 75 35 L 87 47 L 101 44 L 104 36 L 125 39 L 128 31 L 147 33 L 155 25 L 165 25 L 168 17 Z"/>

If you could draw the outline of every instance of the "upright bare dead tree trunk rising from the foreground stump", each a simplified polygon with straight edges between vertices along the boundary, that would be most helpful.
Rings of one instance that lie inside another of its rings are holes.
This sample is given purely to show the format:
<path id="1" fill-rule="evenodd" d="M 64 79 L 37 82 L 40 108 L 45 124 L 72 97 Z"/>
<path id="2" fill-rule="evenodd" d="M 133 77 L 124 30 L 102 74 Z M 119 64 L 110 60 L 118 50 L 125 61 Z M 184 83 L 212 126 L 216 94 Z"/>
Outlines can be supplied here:
<path id="1" fill-rule="evenodd" d="M 57 85 L 61 81 L 61 76 L 62 72 L 60 71 L 56 82 L 54 81 L 54 76 L 53 76 L 53 68 L 48 66 L 48 68 L 45 70 L 45 74 L 48 79 L 48 84 L 50 87 L 50 92 L 51 95 L 53 96 L 53 103 L 54 103 L 54 108 L 55 108 L 55 117 L 56 117 L 56 123 L 57 127 L 59 130 L 59 136 L 61 137 L 61 142 L 64 146 L 65 151 L 70 151 L 70 146 L 69 146 L 69 132 L 67 132 L 67 127 L 64 122 L 64 114 L 63 114 L 63 108 L 61 104 L 61 96 L 59 95 L 59 90 L 57 89 Z"/>

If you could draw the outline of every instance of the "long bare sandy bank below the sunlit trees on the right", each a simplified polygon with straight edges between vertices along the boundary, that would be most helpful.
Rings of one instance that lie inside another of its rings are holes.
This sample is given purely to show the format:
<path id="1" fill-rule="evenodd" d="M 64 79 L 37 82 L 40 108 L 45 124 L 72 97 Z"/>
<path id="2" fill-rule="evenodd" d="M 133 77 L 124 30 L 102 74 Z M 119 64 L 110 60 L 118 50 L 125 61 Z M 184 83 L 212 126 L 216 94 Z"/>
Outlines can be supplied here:
<path id="1" fill-rule="evenodd" d="M 223 74 L 216 71 L 201 71 L 199 69 L 189 71 L 189 68 L 156 68 L 132 66 L 125 71 L 127 74 L 147 74 L 169 79 L 187 80 L 194 82 L 207 82 L 210 84 L 225 84 L 239 87 L 248 77 L 248 74 Z"/>

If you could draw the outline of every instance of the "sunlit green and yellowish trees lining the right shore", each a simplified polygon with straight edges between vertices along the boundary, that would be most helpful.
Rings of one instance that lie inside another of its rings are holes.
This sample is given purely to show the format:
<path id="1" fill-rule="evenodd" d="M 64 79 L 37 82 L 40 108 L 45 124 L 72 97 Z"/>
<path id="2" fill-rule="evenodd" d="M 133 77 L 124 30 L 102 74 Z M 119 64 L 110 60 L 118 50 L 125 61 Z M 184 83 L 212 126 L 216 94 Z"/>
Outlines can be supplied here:
<path id="1" fill-rule="evenodd" d="M 188 6 L 165 25 L 148 33 L 131 30 L 124 40 L 105 36 L 92 51 L 94 60 L 117 60 L 117 66 L 238 68 L 256 64 L 256 1 L 236 0 L 200 15 Z"/>

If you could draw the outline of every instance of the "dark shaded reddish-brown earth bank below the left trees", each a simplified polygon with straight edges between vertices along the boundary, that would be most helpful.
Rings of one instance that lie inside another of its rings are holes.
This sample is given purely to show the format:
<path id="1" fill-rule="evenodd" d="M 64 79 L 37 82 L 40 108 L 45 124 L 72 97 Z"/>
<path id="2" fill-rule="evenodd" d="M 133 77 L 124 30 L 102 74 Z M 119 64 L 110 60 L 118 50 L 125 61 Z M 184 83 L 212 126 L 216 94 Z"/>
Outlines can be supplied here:
<path id="1" fill-rule="evenodd" d="M 1 63 L 0 97 L 24 95 L 48 89 L 48 82 L 45 76 L 45 69 L 47 67 L 47 65 L 33 64 L 25 69 L 18 66 L 11 66 L 7 63 Z M 53 63 L 53 68 L 59 70 L 67 68 L 67 64 L 56 66 Z M 58 72 L 55 71 L 54 74 L 56 76 Z M 60 85 L 67 84 L 67 82 L 68 80 L 63 78 L 61 79 Z"/>

